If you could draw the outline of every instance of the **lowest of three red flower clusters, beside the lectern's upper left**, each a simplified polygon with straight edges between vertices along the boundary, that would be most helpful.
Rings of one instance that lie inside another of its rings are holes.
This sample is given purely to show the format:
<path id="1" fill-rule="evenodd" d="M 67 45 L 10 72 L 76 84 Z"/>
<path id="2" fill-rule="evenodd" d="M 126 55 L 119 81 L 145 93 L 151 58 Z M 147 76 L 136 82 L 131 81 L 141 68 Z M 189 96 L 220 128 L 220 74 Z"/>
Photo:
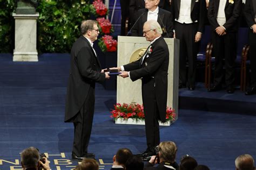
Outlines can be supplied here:
<path id="1" fill-rule="evenodd" d="M 117 51 L 117 40 L 112 36 L 105 35 L 99 39 L 98 45 L 103 52 Z"/>

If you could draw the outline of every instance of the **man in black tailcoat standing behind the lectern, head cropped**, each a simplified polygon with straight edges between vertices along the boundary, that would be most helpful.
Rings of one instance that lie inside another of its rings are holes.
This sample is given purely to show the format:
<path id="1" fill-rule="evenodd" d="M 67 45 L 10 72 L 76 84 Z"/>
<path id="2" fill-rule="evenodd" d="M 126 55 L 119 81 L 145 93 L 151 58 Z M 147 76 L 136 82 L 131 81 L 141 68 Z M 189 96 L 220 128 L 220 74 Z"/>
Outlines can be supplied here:
<path id="1" fill-rule="evenodd" d="M 170 20 L 172 13 L 158 7 L 159 0 L 146 0 L 145 9 L 138 10 L 137 23 L 131 30 L 131 36 L 143 37 L 143 24 L 147 20 L 156 20 L 163 30 L 161 36 L 165 38 L 173 38 L 173 23 Z"/>

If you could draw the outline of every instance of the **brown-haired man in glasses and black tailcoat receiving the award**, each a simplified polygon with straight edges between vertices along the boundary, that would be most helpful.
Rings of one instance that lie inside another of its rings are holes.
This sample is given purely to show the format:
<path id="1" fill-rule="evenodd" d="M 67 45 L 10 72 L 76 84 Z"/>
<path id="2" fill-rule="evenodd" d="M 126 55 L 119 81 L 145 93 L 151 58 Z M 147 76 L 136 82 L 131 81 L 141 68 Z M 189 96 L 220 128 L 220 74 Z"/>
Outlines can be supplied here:
<path id="1" fill-rule="evenodd" d="M 95 107 L 95 83 L 102 83 L 110 77 L 100 68 L 98 56 L 92 47 L 99 33 L 97 22 L 84 20 L 80 29 L 82 36 L 73 44 L 70 54 L 65 107 L 65 122 L 72 122 L 75 128 L 73 160 L 95 158 L 95 154 L 87 152 Z"/>

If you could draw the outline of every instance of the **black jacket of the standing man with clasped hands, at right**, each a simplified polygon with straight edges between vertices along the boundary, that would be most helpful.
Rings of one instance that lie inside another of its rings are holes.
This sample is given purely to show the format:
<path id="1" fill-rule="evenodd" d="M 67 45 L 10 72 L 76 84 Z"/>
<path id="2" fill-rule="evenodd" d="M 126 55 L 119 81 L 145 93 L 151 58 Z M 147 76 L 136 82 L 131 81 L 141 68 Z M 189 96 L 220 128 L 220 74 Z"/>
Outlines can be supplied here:
<path id="1" fill-rule="evenodd" d="M 226 32 L 237 32 L 239 27 L 239 16 L 241 14 L 241 0 L 233 0 L 233 4 L 226 0 L 225 6 L 225 16 L 226 23 L 223 25 L 226 29 Z M 214 0 L 209 2 L 208 8 L 208 20 L 212 26 L 212 29 L 215 30 L 218 26 L 220 26 L 217 22 L 217 15 L 219 10 L 219 2 L 220 0 Z"/>

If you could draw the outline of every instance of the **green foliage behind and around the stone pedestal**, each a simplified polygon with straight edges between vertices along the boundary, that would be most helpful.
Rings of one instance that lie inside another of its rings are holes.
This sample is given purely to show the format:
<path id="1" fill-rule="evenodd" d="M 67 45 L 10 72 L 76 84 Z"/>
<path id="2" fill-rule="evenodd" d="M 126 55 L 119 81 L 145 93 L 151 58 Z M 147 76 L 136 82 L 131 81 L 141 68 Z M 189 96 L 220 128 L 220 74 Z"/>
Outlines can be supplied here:
<path id="1" fill-rule="evenodd" d="M 15 40 L 16 0 L 0 0 L 0 53 L 12 53 Z M 39 0 L 37 49 L 41 53 L 70 52 L 79 27 L 90 15 L 89 0 Z"/>

